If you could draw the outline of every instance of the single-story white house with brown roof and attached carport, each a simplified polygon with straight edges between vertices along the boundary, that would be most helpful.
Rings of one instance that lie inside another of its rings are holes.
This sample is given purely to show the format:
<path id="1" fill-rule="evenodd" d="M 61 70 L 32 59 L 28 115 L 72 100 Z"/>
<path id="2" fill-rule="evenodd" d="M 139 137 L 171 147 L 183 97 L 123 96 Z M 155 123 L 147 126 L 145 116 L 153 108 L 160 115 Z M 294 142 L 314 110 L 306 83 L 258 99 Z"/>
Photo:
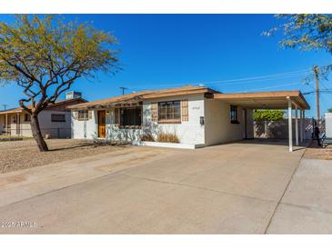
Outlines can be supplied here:
<path id="1" fill-rule="evenodd" d="M 68 108 L 72 110 L 72 138 L 153 144 L 142 138 L 156 141 L 160 134 L 174 134 L 179 140 L 174 146 L 195 148 L 252 138 L 253 109 L 288 108 L 291 112 L 295 108 L 303 116 L 309 105 L 299 91 L 222 94 L 205 86 L 186 85 Z"/>

